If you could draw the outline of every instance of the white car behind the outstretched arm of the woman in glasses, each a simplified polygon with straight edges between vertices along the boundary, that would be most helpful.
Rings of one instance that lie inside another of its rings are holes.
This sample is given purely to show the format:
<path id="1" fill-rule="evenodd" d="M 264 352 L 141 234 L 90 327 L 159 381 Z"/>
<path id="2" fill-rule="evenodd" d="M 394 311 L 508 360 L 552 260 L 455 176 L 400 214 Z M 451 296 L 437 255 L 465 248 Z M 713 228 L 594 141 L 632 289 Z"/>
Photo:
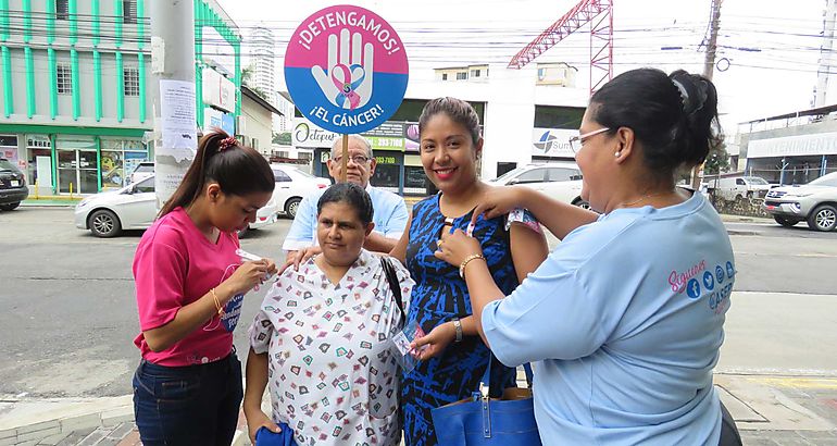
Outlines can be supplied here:
<path id="1" fill-rule="evenodd" d="M 512 186 L 515 184 L 539 190 L 559 201 L 590 209 L 583 200 L 582 171 L 574 162 L 554 162 L 548 164 L 528 164 L 509 171 L 489 184 Z"/>

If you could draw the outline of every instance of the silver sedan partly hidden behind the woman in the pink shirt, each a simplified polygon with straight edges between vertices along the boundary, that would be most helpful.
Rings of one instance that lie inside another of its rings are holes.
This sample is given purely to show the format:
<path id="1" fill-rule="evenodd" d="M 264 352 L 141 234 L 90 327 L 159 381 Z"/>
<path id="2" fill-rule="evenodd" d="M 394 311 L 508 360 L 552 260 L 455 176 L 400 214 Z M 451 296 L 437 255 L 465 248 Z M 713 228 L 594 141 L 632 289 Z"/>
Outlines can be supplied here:
<path id="1" fill-rule="evenodd" d="M 255 230 L 275 223 L 279 207 L 276 194 L 255 213 L 255 221 L 249 230 Z M 91 195 L 76 206 L 75 225 L 79 230 L 90 230 L 97 237 L 115 237 L 124 230 L 146 230 L 157 218 L 157 195 L 154 176 L 121 189 Z M 242 236 L 243 232 L 239 233 Z"/>

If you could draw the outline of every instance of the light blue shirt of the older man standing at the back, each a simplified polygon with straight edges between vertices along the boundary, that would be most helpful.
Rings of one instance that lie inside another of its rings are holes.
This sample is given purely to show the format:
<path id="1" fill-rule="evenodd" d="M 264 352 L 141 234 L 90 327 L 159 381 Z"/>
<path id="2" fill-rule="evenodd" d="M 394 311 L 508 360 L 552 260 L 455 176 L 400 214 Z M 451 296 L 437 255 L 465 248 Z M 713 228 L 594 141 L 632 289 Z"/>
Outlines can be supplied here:
<path id="1" fill-rule="evenodd" d="M 318 189 L 316 194 L 302 198 L 297 209 L 297 216 L 293 218 L 285 243 L 282 244 L 282 249 L 295 251 L 318 245 L 316 239 L 316 203 L 325 191 L 326 189 Z M 372 215 L 372 221 L 375 223 L 373 231 L 387 238 L 401 238 L 408 220 L 404 199 L 372 185 L 366 186 L 366 193 L 370 195 L 372 208 L 375 210 Z"/>

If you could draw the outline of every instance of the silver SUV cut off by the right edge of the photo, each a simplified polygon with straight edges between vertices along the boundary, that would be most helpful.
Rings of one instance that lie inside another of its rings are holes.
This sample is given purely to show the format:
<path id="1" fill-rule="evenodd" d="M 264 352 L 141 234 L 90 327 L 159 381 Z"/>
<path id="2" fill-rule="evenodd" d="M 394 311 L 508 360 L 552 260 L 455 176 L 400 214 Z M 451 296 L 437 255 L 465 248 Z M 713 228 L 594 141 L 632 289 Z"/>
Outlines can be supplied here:
<path id="1" fill-rule="evenodd" d="M 794 226 L 805 220 L 816 231 L 834 231 L 837 226 L 837 172 L 811 183 L 775 187 L 762 205 L 776 223 Z"/>

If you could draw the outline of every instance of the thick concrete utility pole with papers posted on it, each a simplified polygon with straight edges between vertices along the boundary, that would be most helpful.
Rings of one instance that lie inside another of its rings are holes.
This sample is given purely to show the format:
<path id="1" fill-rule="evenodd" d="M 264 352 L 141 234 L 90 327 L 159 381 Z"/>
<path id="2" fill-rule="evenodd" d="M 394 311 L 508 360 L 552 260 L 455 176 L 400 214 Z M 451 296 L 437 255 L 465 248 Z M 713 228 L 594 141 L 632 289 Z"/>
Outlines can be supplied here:
<path id="1" fill-rule="evenodd" d="M 174 194 L 197 150 L 192 1 L 152 0 L 151 95 L 157 209 Z"/>

